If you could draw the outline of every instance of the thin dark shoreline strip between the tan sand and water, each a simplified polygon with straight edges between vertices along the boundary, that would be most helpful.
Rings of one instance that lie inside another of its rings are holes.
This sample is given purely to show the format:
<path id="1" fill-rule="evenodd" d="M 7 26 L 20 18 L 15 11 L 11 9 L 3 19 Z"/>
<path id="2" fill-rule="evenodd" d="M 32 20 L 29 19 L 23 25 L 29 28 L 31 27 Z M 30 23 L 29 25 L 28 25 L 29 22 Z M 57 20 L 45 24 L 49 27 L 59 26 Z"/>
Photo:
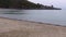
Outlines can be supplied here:
<path id="1" fill-rule="evenodd" d="M 2 17 L 2 16 L 0 16 L 0 18 L 7 18 L 7 20 L 13 20 L 13 21 L 24 21 L 24 22 L 30 22 L 30 23 L 46 24 L 46 25 L 53 25 L 53 26 L 62 26 L 59 24 L 42 23 L 42 22 L 28 21 L 28 20 L 18 20 L 18 18 Z M 66 26 L 62 26 L 62 27 L 66 27 Z"/>

